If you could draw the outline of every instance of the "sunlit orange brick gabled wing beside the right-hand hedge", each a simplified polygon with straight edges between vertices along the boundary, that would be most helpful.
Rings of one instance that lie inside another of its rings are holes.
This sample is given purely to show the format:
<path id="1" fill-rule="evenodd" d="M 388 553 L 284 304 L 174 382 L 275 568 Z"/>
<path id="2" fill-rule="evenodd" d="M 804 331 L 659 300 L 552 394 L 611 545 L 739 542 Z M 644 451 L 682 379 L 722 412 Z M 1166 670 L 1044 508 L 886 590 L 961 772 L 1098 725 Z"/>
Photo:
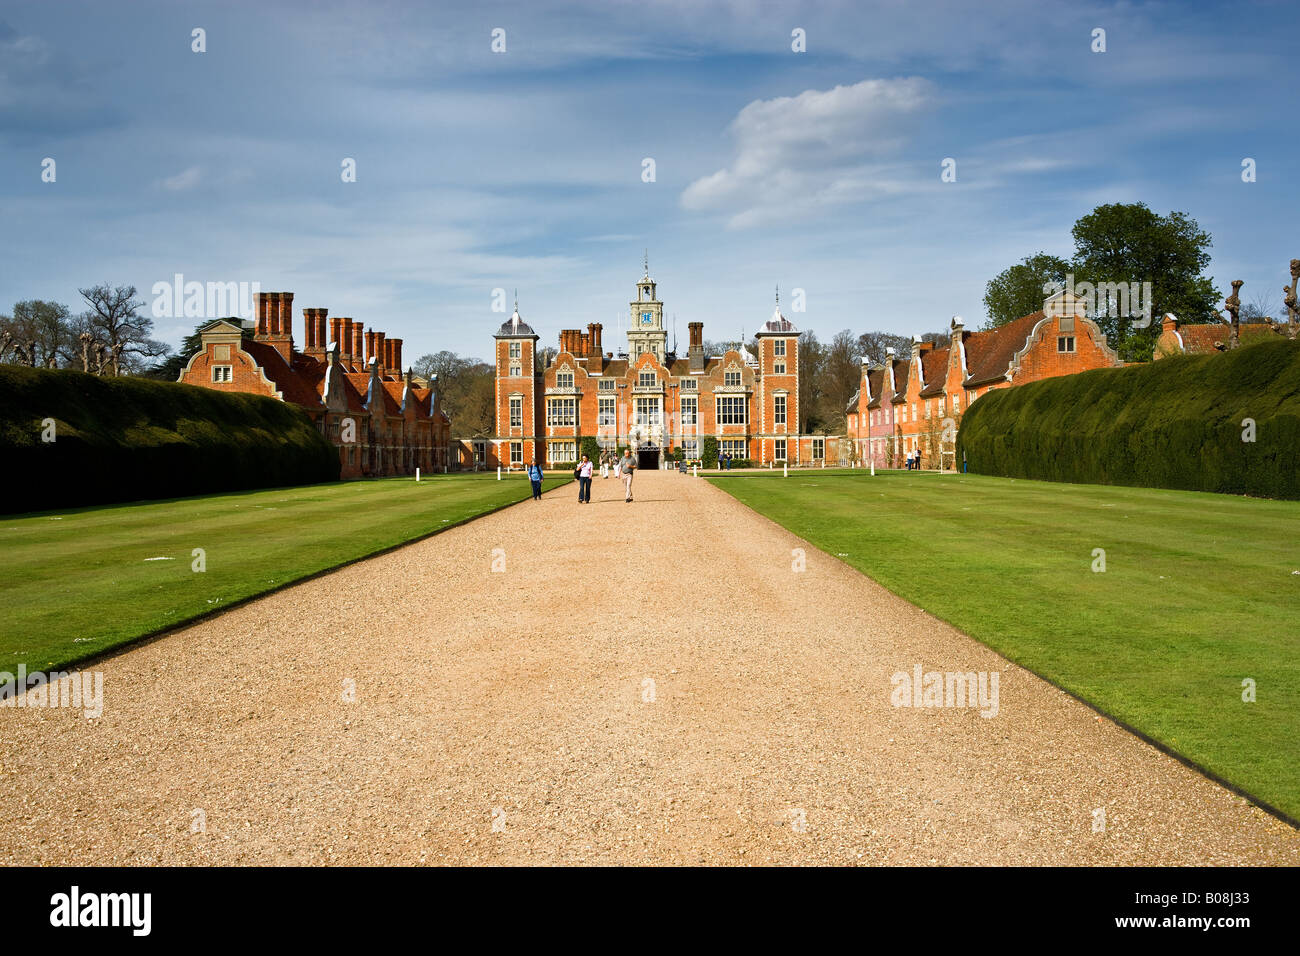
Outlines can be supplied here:
<path id="1" fill-rule="evenodd" d="M 1061 291 L 1043 311 L 987 332 L 967 332 L 953 319 L 950 341 L 936 349 L 915 338 L 911 354 L 887 350 L 884 365 L 862 365 L 848 408 L 848 441 L 878 468 L 901 467 L 913 451 L 927 468 L 959 468 L 962 412 L 992 389 L 1074 375 L 1122 363 L 1106 336 L 1087 317 L 1084 302 Z"/>

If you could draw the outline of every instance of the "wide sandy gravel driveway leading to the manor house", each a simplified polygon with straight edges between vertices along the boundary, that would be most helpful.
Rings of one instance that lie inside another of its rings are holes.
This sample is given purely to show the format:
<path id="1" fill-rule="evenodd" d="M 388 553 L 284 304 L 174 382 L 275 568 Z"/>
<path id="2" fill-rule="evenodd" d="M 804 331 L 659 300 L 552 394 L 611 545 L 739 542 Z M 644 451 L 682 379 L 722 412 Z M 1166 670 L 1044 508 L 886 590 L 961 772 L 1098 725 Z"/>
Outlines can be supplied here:
<path id="1" fill-rule="evenodd" d="M 568 485 L 122 653 L 98 719 L 0 709 L 0 862 L 1300 864 L 707 483 L 634 494 Z M 918 665 L 997 672 L 996 715 L 894 706 Z"/>

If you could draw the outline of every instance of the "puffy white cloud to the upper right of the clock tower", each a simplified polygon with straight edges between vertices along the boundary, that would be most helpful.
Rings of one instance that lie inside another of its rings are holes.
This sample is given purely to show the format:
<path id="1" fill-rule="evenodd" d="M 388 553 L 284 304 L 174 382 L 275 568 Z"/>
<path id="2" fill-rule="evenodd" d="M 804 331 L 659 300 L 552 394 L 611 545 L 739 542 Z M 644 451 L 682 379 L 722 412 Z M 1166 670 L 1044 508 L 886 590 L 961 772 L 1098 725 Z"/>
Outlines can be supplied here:
<path id="1" fill-rule="evenodd" d="M 727 213 L 740 229 L 905 191 L 909 178 L 881 157 L 897 152 L 905 120 L 933 99 L 928 81 L 907 77 L 754 100 L 728 126 L 731 165 L 692 182 L 681 204 Z"/>

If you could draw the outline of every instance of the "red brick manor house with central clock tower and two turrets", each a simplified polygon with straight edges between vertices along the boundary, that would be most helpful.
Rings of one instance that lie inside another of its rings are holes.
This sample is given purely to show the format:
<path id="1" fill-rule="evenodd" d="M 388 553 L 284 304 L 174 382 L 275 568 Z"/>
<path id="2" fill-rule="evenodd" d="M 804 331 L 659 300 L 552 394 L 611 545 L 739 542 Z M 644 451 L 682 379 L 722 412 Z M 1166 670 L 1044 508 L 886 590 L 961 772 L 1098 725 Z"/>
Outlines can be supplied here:
<path id="1" fill-rule="evenodd" d="M 758 329 L 758 356 L 728 349 L 706 355 L 703 323 L 689 323 L 685 355 L 670 351 L 663 303 L 649 269 L 630 302 L 628 350 L 604 351 L 602 326 L 560 332 L 559 354 L 540 368 L 541 338 L 515 313 L 495 334 L 497 428 L 477 449 L 489 467 L 576 460 L 582 438 L 602 450 L 633 446 L 655 462 L 680 451 L 754 464 L 822 458 L 827 440 L 798 433 L 800 332 L 780 304 Z"/>

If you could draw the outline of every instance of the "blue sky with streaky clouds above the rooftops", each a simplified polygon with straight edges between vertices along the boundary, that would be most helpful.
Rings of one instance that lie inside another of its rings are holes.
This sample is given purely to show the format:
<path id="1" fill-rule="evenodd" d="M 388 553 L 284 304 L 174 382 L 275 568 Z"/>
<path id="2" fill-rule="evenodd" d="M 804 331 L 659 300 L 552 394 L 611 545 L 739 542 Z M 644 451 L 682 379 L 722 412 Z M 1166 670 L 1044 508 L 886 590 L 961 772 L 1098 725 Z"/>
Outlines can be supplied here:
<path id="1" fill-rule="evenodd" d="M 1069 256 L 1108 202 L 1187 212 L 1218 287 L 1279 308 L 1300 256 L 1297 10 L 0 1 L 0 312 L 79 311 L 96 282 L 151 300 L 174 273 L 256 281 L 295 293 L 296 337 L 328 307 L 410 362 L 489 355 L 493 290 L 517 287 L 545 342 L 599 321 L 621 347 L 649 247 L 682 341 L 697 320 L 753 332 L 776 284 L 823 339 L 913 334 L 982 323 L 993 274 Z"/>

